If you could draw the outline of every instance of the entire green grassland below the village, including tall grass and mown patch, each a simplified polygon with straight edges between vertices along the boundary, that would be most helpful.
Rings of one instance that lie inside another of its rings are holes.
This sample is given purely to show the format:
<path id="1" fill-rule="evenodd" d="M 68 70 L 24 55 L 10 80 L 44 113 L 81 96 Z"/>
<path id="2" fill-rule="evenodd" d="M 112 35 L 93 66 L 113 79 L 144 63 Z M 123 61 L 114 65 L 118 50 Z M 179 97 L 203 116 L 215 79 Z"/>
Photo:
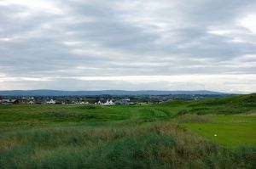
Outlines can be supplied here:
<path id="1" fill-rule="evenodd" d="M 0 168 L 254 168 L 255 113 L 255 94 L 112 107 L 0 105 Z"/>

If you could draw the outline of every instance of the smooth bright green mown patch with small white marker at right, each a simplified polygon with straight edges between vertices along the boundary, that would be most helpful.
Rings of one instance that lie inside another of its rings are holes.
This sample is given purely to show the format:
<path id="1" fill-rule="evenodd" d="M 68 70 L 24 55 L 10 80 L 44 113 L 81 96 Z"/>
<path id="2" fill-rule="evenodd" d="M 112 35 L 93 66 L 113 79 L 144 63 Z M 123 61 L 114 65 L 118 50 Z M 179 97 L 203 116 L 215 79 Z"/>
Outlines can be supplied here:
<path id="1" fill-rule="evenodd" d="M 190 131 L 227 146 L 256 145 L 256 116 L 212 115 L 213 123 L 185 123 Z"/>

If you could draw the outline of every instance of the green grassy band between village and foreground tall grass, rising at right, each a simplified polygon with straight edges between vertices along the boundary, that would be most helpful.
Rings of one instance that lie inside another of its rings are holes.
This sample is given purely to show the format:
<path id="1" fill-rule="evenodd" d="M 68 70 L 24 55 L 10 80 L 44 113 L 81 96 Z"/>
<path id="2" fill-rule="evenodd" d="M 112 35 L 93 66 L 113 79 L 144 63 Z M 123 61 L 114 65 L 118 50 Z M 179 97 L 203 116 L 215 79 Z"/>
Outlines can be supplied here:
<path id="1" fill-rule="evenodd" d="M 119 120 L 169 120 L 183 114 L 238 114 L 256 111 L 256 94 L 200 101 L 171 101 L 154 105 L 1 105 L 0 128 L 6 126 L 44 125 L 55 122 L 95 122 Z"/>

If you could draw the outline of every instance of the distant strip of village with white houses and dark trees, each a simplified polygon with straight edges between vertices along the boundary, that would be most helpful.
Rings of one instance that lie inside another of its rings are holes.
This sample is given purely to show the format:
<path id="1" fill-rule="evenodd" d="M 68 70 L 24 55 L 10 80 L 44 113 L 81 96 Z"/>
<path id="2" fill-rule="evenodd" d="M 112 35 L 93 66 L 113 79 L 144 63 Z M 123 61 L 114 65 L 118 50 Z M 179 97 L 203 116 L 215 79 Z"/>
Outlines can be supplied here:
<path id="1" fill-rule="evenodd" d="M 170 100 L 205 99 L 203 95 L 170 96 L 96 96 L 96 97 L 1 97 L 0 104 L 98 104 L 98 105 L 134 105 L 160 104 Z"/>

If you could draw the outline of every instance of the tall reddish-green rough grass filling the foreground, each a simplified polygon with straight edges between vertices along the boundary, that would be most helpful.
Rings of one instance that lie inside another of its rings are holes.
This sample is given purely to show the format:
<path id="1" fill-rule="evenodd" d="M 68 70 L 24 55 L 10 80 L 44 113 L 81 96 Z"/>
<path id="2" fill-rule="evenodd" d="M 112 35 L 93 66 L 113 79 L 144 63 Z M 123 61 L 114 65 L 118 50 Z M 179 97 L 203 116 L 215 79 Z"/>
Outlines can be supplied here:
<path id="1" fill-rule="evenodd" d="M 47 127 L 0 136 L 0 168 L 253 168 L 256 148 L 227 149 L 161 122 Z"/>

